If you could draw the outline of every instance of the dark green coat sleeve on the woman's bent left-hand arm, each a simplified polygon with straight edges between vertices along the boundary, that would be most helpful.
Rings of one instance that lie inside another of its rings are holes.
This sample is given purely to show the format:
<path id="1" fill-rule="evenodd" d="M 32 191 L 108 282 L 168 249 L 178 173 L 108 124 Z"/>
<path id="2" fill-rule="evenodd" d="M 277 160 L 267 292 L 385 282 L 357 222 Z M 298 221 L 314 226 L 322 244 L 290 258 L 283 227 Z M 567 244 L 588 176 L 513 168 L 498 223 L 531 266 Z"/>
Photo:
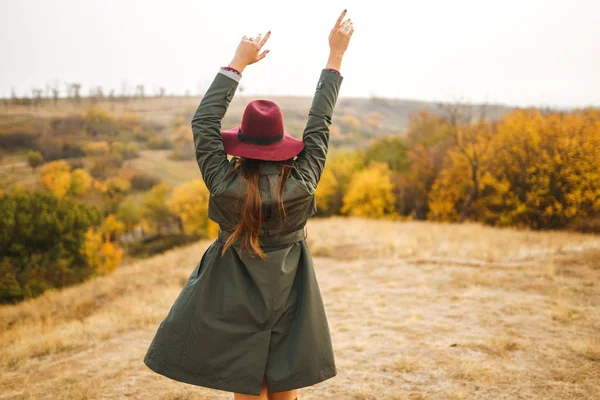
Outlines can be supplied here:
<path id="1" fill-rule="evenodd" d="M 239 76 L 221 68 L 192 118 L 196 161 L 211 193 L 229 169 L 221 137 L 221 121 L 238 84 Z"/>

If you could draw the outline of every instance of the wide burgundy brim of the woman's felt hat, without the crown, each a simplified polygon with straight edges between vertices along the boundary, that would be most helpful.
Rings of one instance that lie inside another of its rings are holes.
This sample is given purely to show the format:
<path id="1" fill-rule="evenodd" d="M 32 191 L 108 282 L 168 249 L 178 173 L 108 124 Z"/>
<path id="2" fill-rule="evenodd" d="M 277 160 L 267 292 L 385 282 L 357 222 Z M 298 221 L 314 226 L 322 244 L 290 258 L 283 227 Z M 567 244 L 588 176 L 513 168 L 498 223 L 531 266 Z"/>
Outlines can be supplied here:
<path id="1" fill-rule="evenodd" d="M 239 129 L 238 126 L 221 132 L 225 152 L 232 156 L 283 161 L 293 158 L 304 149 L 304 141 L 296 139 L 286 131 L 283 132 L 283 139 L 268 145 L 240 142 L 237 136 Z"/>

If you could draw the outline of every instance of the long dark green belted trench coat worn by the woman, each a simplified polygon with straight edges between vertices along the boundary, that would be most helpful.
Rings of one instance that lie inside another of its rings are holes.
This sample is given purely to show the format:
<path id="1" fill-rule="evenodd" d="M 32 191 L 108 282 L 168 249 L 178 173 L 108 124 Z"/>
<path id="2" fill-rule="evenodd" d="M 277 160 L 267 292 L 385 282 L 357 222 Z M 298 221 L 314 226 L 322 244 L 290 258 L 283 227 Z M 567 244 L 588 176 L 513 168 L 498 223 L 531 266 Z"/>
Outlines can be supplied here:
<path id="1" fill-rule="evenodd" d="M 261 260 L 240 250 L 239 241 L 221 256 L 240 219 L 237 200 L 245 181 L 232 169 L 220 134 L 238 81 L 217 73 L 192 119 L 192 130 L 210 191 L 208 216 L 219 224 L 219 235 L 158 326 L 144 357 L 154 372 L 249 395 L 260 394 L 263 377 L 269 392 L 280 392 L 337 374 L 305 225 L 317 210 L 315 190 L 342 79 L 321 71 L 303 133 L 305 147 L 285 187 L 287 221 L 281 230 L 276 217 L 278 168 L 274 162 L 260 164 L 260 242 L 269 257 Z"/>

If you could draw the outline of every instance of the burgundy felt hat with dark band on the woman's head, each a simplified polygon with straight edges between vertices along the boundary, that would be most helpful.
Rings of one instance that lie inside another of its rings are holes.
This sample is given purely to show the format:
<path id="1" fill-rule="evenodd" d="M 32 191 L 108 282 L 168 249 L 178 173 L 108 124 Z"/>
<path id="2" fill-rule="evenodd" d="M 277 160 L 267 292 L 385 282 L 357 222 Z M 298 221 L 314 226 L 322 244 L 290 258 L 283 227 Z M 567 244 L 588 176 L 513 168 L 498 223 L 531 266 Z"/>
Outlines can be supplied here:
<path id="1" fill-rule="evenodd" d="M 302 140 L 283 129 L 281 109 L 269 100 L 248 103 L 242 125 L 222 131 L 221 135 L 227 154 L 258 160 L 287 160 L 304 148 Z"/>

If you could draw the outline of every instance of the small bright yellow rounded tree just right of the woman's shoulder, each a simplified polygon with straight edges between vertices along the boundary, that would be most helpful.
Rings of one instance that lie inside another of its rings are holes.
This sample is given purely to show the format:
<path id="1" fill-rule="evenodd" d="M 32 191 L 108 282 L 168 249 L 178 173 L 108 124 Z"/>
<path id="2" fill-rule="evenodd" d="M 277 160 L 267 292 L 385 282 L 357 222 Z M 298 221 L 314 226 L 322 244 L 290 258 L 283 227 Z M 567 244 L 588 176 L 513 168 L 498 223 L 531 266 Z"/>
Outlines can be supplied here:
<path id="1" fill-rule="evenodd" d="M 372 161 L 352 176 L 341 212 L 367 218 L 396 218 L 391 171 L 386 163 Z"/>

